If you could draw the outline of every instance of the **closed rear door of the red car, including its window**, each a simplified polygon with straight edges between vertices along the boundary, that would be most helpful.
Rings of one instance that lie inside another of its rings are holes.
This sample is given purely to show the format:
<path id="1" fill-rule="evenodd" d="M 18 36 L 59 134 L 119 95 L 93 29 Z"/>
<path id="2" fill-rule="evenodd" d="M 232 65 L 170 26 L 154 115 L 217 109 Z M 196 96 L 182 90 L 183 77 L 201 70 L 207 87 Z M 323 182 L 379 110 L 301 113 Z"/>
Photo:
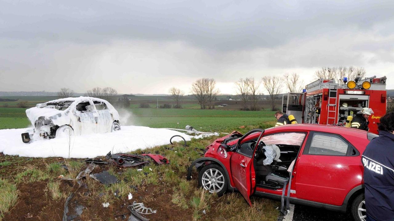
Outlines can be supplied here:
<path id="1" fill-rule="evenodd" d="M 311 132 L 296 163 L 297 198 L 342 205 L 361 183 L 359 152 L 338 134 Z"/>

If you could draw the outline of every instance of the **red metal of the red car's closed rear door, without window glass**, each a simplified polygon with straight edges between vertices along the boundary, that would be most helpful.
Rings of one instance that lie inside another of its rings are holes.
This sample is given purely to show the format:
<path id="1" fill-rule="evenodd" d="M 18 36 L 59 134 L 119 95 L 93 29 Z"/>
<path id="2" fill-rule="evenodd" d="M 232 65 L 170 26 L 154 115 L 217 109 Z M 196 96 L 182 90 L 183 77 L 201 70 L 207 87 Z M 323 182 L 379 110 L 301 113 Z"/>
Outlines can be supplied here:
<path id="1" fill-rule="evenodd" d="M 296 163 L 297 198 L 340 206 L 349 190 L 362 180 L 361 158 L 308 154 L 312 134 Z"/>

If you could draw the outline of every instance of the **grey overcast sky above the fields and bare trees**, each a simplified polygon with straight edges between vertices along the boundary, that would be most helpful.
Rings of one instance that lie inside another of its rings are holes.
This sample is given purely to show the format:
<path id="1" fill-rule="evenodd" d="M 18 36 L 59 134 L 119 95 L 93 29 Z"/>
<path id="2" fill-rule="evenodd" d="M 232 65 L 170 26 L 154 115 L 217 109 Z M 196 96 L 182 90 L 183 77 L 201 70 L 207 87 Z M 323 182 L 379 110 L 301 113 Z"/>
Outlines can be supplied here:
<path id="1" fill-rule="evenodd" d="M 240 77 L 309 83 L 322 66 L 394 89 L 394 1 L 0 0 L 0 91 L 188 94 L 210 77 L 234 93 Z"/>

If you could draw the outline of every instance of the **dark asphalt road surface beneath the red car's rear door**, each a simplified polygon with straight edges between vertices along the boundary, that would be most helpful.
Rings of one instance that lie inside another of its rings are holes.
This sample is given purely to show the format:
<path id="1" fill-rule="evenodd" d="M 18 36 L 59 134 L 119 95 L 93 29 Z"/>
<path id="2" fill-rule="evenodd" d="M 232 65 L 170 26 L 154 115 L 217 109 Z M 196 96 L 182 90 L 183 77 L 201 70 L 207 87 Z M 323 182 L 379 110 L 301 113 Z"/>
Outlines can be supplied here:
<path id="1" fill-rule="evenodd" d="M 353 221 L 350 214 L 296 205 L 293 221 Z"/>

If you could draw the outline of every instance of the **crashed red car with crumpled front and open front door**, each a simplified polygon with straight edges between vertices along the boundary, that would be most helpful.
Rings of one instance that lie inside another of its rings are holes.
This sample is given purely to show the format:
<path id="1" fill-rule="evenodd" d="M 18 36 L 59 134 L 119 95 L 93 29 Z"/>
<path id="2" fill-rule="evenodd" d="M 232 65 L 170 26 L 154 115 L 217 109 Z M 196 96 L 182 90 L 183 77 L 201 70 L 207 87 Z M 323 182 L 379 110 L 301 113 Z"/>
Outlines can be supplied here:
<path id="1" fill-rule="evenodd" d="M 237 190 L 251 204 L 251 195 L 284 200 L 290 190 L 290 203 L 350 212 L 365 221 L 361 154 L 376 136 L 312 124 L 235 131 L 206 147 L 188 179 L 195 166 L 199 185 L 211 193 Z"/>

